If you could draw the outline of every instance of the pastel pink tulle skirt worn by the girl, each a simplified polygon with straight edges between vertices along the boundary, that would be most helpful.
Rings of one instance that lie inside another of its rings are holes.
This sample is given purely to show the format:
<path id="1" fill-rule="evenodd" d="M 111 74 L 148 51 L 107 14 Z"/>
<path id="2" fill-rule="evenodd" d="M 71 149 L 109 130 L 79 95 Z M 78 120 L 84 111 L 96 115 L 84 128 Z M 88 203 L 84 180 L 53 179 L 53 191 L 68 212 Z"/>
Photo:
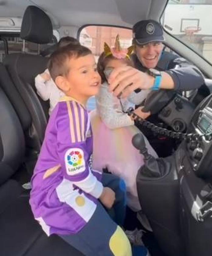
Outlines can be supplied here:
<path id="1" fill-rule="evenodd" d="M 96 110 L 90 112 L 90 120 L 94 138 L 93 169 L 107 168 L 112 174 L 121 177 L 127 186 L 127 205 L 134 211 L 141 210 L 136 176 L 144 160 L 143 155 L 132 145 L 132 137 L 140 131 L 135 125 L 109 129 Z M 148 152 L 157 157 L 146 138 L 145 142 Z"/>

